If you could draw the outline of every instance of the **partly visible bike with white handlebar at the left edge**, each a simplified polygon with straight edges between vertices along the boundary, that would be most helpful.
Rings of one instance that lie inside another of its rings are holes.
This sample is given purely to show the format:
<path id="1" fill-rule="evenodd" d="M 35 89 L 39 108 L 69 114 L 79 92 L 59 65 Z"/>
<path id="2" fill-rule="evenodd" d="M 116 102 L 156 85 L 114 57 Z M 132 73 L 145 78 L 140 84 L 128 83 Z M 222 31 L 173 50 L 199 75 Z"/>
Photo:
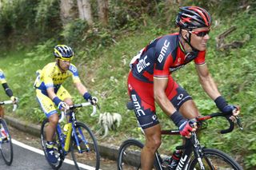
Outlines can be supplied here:
<path id="1" fill-rule="evenodd" d="M 18 108 L 18 105 L 14 104 L 13 101 L 0 101 L 0 105 L 10 104 L 14 105 L 13 111 Z M 14 158 L 13 144 L 8 126 L 3 118 L 0 118 L 0 129 L 0 152 L 5 163 L 10 166 Z"/>

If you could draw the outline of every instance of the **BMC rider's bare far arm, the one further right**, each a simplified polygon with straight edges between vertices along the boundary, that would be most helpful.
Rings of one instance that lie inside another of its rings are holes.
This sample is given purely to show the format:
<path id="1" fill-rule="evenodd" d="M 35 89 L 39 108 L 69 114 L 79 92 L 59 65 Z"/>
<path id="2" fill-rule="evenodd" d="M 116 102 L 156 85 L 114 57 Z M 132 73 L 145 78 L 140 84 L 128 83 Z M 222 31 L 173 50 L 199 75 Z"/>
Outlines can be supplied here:
<path id="1" fill-rule="evenodd" d="M 196 65 L 196 68 L 202 89 L 206 91 L 209 97 L 215 100 L 217 97 L 221 96 L 221 94 L 218 92 L 214 79 L 210 76 L 207 65 Z"/>

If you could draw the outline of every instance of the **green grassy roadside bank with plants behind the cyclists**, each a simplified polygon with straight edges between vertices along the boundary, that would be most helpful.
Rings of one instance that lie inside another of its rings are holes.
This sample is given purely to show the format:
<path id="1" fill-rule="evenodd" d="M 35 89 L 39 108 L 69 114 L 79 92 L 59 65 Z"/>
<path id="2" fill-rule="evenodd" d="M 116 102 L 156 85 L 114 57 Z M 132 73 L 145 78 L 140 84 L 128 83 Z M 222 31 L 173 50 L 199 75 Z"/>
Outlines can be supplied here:
<path id="1" fill-rule="evenodd" d="M 52 54 L 54 45 L 58 43 L 70 44 L 75 52 L 73 62 L 78 66 L 82 81 L 88 87 L 90 93 L 99 99 L 101 109 L 98 110 L 98 114 L 109 112 L 122 115 L 120 127 L 110 131 L 104 139 L 101 139 L 101 136 L 98 135 L 99 142 L 113 144 L 115 140 L 114 144 L 118 145 L 121 144 L 122 140 L 129 137 L 143 140 L 144 137 L 137 126 L 134 113 L 126 109 L 126 102 L 129 101 L 126 79 L 130 59 L 154 38 L 178 31 L 174 27 L 174 16 L 177 14 L 178 6 L 206 6 L 206 9 L 209 9 L 214 18 L 206 62 L 222 95 L 230 103 L 241 105 L 244 130 L 240 131 L 236 127 L 234 132 L 220 135 L 218 130 L 226 127 L 225 121 L 213 120 L 210 121 L 208 128 L 202 132 L 201 140 L 207 147 L 219 148 L 229 153 L 245 169 L 256 168 L 255 2 L 213 0 L 195 3 L 184 1 L 182 4 L 174 4 L 167 8 L 164 3 L 155 1 L 158 3 L 150 3 L 151 7 L 153 6 L 152 9 L 154 9 L 152 14 L 147 14 L 146 7 L 138 5 L 136 2 L 140 1 L 127 0 L 120 4 L 114 4 L 114 1 L 110 1 L 110 9 L 115 9 L 115 12 L 110 11 L 110 26 L 102 27 L 100 23 L 95 23 L 94 27 L 91 28 L 86 25 L 86 22 L 77 20 L 70 23 L 70 26 L 63 30 L 60 29 L 61 26 L 57 25 L 60 30 L 54 27 L 51 32 L 50 26 L 52 25 L 49 26 L 49 23 L 46 22 L 44 23 L 46 32 L 38 39 L 34 36 L 40 30 L 35 30 L 36 28 L 32 27 L 30 27 L 31 32 L 26 32 L 27 30 L 22 30 L 23 27 L 20 27 L 15 32 L 16 35 L 13 33 L 12 36 L 6 39 L 4 37 L 6 35 L 2 34 L 4 30 L 2 24 L 8 22 L 10 26 L 13 26 L 17 18 L 9 16 L 10 20 L 5 21 L 4 18 L 7 18 L 5 16 L 7 12 L 5 13 L 5 11 L 11 9 L 0 11 L 2 17 L 0 18 L 0 44 L 2 48 L 0 68 L 6 73 L 11 89 L 20 99 L 17 113 L 9 112 L 7 114 L 29 123 L 38 125 L 41 123 L 45 116 L 35 98 L 33 88 L 35 72 L 37 69 L 42 69 L 46 63 L 54 61 Z M 136 6 L 130 8 L 134 4 Z M 114 5 L 116 5 L 116 8 L 114 8 Z M 30 4 L 30 6 L 32 5 Z M 139 10 L 141 8 L 143 11 Z M 56 12 L 56 9 L 52 11 Z M 16 10 L 16 12 L 25 13 L 23 10 Z M 26 12 L 29 13 L 30 11 Z M 132 12 L 137 12 L 139 16 L 134 16 Z M 32 19 L 29 14 L 24 16 Z M 18 14 L 16 17 L 18 17 Z M 56 12 L 53 16 L 46 17 L 54 19 L 58 18 L 58 14 Z M 42 22 L 40 23 L 42 24 Z M 225 42 L 245 39 L 246 42 L 238 48 L 217 50 L 214 38 L 231 26 L 236 26 L 237 30 L 234 30 L 225 39 Z M 17 29 L 16 26 L 14 28 Z M 83 32 L 85 30 L 86 33 Z M 214 101 L 206 96 L 199 85 L 193 63 L 175 72 L 174 79 L 192 95 L 202 114 L 218 112 Z M 82 97 L 74 90 L 71 81 L 65 82 L 64 86 L 74 96 L 74 102 L 83 102 Z M 1 100 L 7 99 L 3 90 L 0 90 L 0 96 Z M 8 108 L 6 109 L 8 110 Z M 169 118 L 159 108 L 157 110 L 162 128 L 174 128 L 174 124 Z M 94 132 L 97 132 L 100 128 L 97 124 L 98 117 L 90 117 L 89 113 L 90 109 L 80 109 L 78 120 L 86 122 L 94 129 Z M 162 149 L 173 151 L 174 147 L 180 142 L 179 137 L 164 137 Z"/>

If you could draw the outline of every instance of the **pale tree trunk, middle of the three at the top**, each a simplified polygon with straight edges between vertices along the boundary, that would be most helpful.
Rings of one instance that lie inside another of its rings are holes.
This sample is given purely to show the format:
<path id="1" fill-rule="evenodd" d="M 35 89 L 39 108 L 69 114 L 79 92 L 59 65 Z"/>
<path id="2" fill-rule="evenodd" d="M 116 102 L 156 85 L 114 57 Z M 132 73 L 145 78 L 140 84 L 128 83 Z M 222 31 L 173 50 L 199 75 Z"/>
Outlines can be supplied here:
<path id="1" fill-rule="evenodd" d="M 78 12 L 79 18 L 86 20 L 90 26 L 93 24 L 90 0 L 78 0 Z"/>

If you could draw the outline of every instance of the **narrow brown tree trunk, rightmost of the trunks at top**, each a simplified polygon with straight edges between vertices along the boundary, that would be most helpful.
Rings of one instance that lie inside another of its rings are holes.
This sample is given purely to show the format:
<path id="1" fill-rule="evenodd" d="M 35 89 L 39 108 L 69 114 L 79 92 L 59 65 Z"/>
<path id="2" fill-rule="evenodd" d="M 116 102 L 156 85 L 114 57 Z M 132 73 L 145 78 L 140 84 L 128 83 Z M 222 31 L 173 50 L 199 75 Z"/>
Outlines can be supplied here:
<path id="1" fill-rule="evenodd" d="M 103 26 L 108 23 L 108 0 L 97 0 L 98 2 L 98 18 Z"/>

